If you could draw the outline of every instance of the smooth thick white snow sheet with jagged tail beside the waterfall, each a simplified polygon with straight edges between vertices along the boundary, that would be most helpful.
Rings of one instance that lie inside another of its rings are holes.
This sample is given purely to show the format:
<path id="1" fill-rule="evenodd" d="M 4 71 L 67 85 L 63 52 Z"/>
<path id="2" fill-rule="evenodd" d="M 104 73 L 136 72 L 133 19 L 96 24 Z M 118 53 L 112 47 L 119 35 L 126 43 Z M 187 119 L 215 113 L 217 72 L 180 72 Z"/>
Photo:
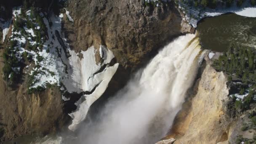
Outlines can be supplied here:
<path id="1" fill-rule="evenodd" d="M 110 66 L 110 61 L 114 58 L 112 51 L 104 46 L 100 46 L 99 53 L 104 60 L 102 64 L 96 64 L 94 47 L 88 48 L 87 51 L 82 51 L 83 58 L 80 59 L 77 53 L 69 51 L 69 65 L 72 66 L 69 71 L 69 79 L 64 80 L 64 85 L 69 92 L 80 93 L 82 91 L 90 91 L 91 94 L 84 94 L 76 103 L 77 109 L 70 113 L 73 118 L 69 129 L 75 131 L 79 123 L 85 120 L 90 106 L 104 93 L 107 86 L 115 74 L 118 63 Z M 104 65 L 107 66 L 103 69 Z M 94 91 L 93 91 L 94 90 Z M 83 101 L 85 99 L 85 101 Z"/>

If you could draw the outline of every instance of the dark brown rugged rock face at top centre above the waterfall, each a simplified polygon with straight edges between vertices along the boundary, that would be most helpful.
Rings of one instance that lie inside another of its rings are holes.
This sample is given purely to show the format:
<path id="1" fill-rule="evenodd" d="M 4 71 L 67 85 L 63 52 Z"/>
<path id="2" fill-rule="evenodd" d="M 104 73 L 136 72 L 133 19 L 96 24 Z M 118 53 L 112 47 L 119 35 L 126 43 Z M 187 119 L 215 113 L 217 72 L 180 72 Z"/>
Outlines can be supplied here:
<path id="1" fill-rule="evenodd" d="M 106 45 L 129 72 L 181 35 L 181 15 L 172 2 L 156 7 L 144 0 L 70 0 L 67 10 L 75 20 L 73 29 L 64 24 L 71 48 Z"/>

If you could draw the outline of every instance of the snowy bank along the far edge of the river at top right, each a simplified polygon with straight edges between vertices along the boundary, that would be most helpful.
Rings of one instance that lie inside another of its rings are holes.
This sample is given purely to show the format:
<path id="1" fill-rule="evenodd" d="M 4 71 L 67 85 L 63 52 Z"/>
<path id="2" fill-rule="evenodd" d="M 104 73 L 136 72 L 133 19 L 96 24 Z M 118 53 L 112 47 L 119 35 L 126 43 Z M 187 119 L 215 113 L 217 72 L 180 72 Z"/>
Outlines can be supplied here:
<path id="1" fill-rule="evenodd" d="M 215 9 L 195 8 L 193 6 L 190 7 L 189 5 L 181 3 L 181 1 L 179 1 L 179 8 L 186 15 L 185 20 L 195 28 L 197 27 L 197 22 L 200 21 L 200 19 L 209 16 L 219 16 L 224 13 L 236 13 L 240 16 L 256 17 L 256 7 L 253 7 L 250 4 L 250 0 L 245 0 L 241 7 L 237 7 L 236 3 L 234 2 L 233 5 L 229 8 L 226 8 L 224 6 L 218 6 Z"/>

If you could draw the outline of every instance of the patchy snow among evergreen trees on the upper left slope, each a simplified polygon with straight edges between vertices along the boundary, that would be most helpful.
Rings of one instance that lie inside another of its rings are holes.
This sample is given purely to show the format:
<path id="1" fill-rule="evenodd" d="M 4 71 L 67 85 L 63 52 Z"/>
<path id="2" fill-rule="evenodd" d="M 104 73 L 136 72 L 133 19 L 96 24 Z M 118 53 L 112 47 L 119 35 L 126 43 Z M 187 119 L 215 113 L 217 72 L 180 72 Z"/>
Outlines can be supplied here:
<path id="1" fill-rule="evenodd" d="M 13 10 L 13 16 L 15 16 L 15 19 L 17 16 L 20 16 L 20 14 L 20 8 Z M 35 20 L 30 18 L 30 11 L 27 11 L 26 14 L 26 19 L 31 20 L 35 28 L 38 28 L 39 26 Z M 19 61 L 23 59 L 22 53 L 27 52 L 28 56 L 32 56 L 32 60 L 35 61 L 36 64 L 36 68 L 33 68 L 32 71 L 29 72 L 29 75 L 33 79 L 32 83 L 29 84 L 29 89 L 38 87 L 45 88 L 47 83 L 59 85 L 61 83 L 61 79 L 65 77 L 65 65 L 59 57 L 59 53 L 64 53 L 64 51 L 61 49 L 61 45 L 57 38 L 55 38 L 55 32 L 61 32 L 61 18 L 51 15 L 46 19 L 44 13 L 40 13 L 40 16 L 42 16 L 48 32 L 48 36 L 45 40 L 41 37 L 41 40 L 35 41 L 35 38 L 37 37 L 37 35 L 35 35 L 35 31 L 32 28 L 28 29 L 26 24 L 24 27 L 16 29 L 16 31 L 14 31 L 12 27 L 11 40 L 17 41 L 17 45 L 14 49 L 19 50 L 16 53 L 17 59 L 19 59 Z M 51 27 L 49 25 L 50 21 L 52 22 Z M 24 29 L 25 32 L 22 33 L 22 29 Z M 27 37 L 27 39 L 25 37 Z M 27 40 L 31 46 L 36 46 L 31 51 L 25 50 L 24 48 Z M 41 45 L 42 48 L 39 48 L 39 45 Z M 39 58 L 41 60 L 39 60 Z M 13 68 L 13 71 L 16 71 L 15 69 L 16 68 Z"/>

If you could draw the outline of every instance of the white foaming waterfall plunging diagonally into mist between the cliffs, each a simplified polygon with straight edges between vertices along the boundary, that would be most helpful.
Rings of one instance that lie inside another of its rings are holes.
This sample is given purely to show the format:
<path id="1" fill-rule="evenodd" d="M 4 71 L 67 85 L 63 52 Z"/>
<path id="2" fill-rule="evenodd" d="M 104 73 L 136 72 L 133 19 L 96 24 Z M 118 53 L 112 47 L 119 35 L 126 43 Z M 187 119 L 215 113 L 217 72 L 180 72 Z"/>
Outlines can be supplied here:
<path id="1" fill-rule="evenodd" d="M 168 133 L 181 109 L 204 53 L 196 35 L 176 38 L 109 99 L 97 114 L 97 121 L 80 124 L 75 139 L 63 136 L 55 143 L 153 144 L 159 141 Z"/>

